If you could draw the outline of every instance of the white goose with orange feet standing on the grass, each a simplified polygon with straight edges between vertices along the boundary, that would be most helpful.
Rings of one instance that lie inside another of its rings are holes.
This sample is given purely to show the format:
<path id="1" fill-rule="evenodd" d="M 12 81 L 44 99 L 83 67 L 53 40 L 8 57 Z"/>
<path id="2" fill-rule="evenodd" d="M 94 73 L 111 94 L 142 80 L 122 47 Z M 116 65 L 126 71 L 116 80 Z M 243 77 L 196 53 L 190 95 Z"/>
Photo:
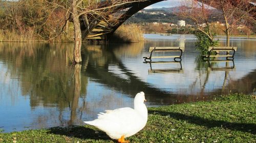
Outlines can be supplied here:
<path id="1" fill-rule="evenodd" d="M 137 93 L 134 98 L 134 109 L 130 107 L 105 110 L 100 112 L 98 119 L 84 123 L 93 125 L 106 132 L 111 138 L 118 139 L 118 142 L 129 142 L 124 140 L 143 129 L 147 122 L 147 108 L 144 104 L 144 92 Z"/>

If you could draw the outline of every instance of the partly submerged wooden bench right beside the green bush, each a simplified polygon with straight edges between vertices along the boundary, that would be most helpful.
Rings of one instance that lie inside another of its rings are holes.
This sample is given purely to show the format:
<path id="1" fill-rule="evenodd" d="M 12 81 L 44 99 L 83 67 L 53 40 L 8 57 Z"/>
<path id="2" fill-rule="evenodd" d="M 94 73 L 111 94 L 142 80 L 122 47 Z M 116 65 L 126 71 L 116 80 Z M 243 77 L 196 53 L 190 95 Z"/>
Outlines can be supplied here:
<path id="1" fill-rule="evenodd" d="M 211 53 L 214 51 L 216 51 L 218 54 L 211 55 Z M 233 53 L 229 54 L 230 51 L 232 51 Z M 209 47 L 207 55 L 203 55 L 203 58 L 207 58 L 209 60 L 210 57 L 226 57 L 227 60 L 233 60 L 234 53 L 236 51 L 237 47 Z M 219 54 L 220 52 L 225 52 L 225 54 Z"/>

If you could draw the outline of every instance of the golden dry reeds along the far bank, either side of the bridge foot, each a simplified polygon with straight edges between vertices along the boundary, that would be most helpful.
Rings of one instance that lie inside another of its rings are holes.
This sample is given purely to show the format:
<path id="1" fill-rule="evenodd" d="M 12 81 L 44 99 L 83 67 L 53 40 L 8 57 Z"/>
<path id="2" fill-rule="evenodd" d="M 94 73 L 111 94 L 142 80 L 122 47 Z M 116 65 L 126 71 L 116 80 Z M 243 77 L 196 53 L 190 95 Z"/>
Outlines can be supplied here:
<path id="1" fill-rule="evenodd" d="M 113 35 L 113 42 L 119 43 L 133 43 L 144 41 L 143 30 L 137 24 L 122 24 Z M 66 33 L 50 39 L 43 38 L 36 34 L 34 31 L 26 31 L 18 33 L 14 30 L 1 30 L 0 29 L 0 42 L 74 42 L 74 33 L 72 27 Z M 94 40 L 83 40 L 83 42 L 91 42 Z M 96 40 L 97 41 L 97 40 Z"/>

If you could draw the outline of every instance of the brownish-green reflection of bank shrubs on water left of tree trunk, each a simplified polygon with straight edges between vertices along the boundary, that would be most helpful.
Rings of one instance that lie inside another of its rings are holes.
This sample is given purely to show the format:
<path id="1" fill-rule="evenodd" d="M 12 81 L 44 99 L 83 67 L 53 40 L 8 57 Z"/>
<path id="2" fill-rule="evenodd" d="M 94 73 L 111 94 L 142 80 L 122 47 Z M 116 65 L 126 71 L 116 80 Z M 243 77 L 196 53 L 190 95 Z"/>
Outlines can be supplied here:
<path id="1" fill-rule="evenodd" d="M 75 81 L 69 66 L 70 51 L 72 43 L 4 43 L 0 48 L 2 56 L 6 56 L 3 60 L 11 59 L 4 63 L 14 77 L 18 76 L 22 94 L 30 96 L 32 108 L 55 104 L 63 109 L 74 100 Z M 81 78 L 83 82 L 80 89 L 84 96 L 87 77 Z"/>

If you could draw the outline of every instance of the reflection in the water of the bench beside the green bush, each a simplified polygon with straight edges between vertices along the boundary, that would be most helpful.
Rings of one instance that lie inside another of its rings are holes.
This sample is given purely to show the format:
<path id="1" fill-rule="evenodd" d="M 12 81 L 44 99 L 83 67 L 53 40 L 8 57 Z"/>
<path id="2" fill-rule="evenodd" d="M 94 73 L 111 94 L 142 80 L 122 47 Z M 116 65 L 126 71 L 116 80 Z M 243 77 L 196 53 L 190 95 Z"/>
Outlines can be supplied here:
<path id="1" fill-rule="evenodd" d="M 225 62 L 226 65 L 225 67 L 215 67 L 213 63 L 221 63 L 221 62 Z M 232 63 L 231 66 L 229 66 L 228 63 Z M 235 69 L 234 67 L 234 61 L 233 60 L 214 60 L 214 61 L 208 61 L 208 70 L 211 71 L 229 71 L 229 70 L 233 70 Z"/>

